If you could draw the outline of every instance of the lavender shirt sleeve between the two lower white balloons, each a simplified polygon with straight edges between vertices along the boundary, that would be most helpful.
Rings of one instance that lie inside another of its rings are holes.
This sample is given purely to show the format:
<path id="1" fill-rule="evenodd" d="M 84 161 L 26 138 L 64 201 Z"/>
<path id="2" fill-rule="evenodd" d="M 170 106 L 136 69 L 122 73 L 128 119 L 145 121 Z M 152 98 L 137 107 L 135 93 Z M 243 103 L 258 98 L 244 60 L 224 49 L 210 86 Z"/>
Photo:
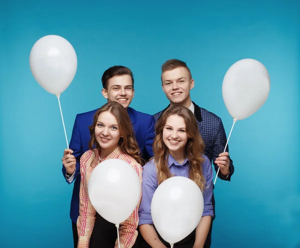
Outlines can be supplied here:
<path id="1" fill-rule="evenodd" d="M 153 224 L 151 217 L 151 200 L 157 188 L 157 177 L 153 159 L 143 166 L 141 182 L 141 202 L 138 210 L 138 224 Z"/>

